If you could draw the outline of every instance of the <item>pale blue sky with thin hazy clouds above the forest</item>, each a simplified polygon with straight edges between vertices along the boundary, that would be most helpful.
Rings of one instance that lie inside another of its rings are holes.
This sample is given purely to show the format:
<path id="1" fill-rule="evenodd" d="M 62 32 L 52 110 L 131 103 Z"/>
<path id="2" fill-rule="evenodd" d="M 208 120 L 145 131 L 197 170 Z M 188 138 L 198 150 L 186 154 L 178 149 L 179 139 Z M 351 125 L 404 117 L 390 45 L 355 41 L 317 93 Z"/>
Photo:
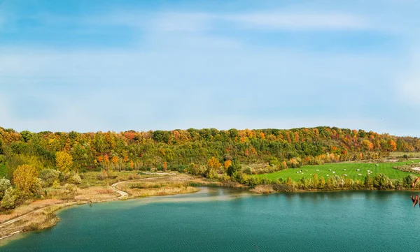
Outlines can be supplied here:
<path id="1" fill-rule="evenodd" d="M 420 136 L 420 1 L 0 0 L 0 126 Z"/>

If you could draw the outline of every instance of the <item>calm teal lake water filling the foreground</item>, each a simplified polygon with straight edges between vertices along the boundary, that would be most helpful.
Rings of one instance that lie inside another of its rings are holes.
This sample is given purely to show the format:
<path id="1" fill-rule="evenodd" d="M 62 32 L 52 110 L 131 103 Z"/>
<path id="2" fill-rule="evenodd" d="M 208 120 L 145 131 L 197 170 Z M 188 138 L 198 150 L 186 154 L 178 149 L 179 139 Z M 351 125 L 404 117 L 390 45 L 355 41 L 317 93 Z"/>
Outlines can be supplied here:
<path id="1" fill-rule="evenodd" d="M 0 251 L 418 251 L 409 193 L 200 193 L 83 205 Z"/>

